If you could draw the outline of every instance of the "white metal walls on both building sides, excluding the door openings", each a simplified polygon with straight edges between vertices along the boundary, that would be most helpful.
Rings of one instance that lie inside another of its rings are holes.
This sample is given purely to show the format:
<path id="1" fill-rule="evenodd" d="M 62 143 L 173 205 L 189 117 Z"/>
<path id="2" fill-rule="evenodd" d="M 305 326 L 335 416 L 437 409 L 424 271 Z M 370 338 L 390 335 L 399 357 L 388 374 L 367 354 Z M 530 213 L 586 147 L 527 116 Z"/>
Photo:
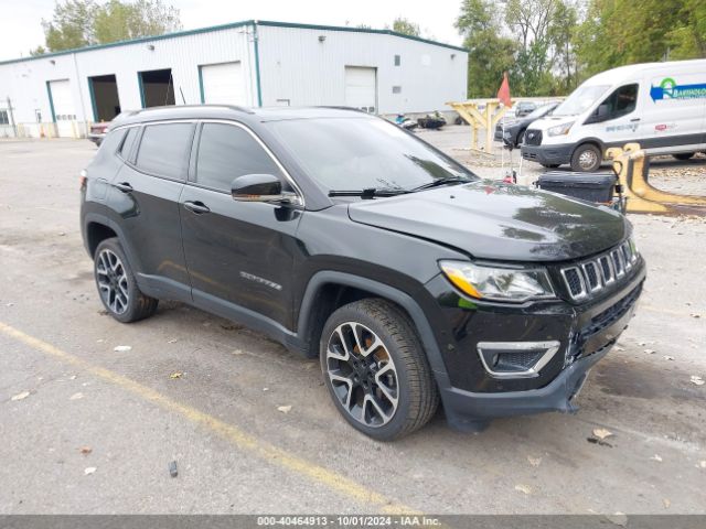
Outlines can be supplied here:
<path id="1" fill-rule="evenodd" d="M 254 26 L 234 25 L 0 64 L 0 98 L 11 98 L 21 133 L 55 136 L 47 82 L 68 79 L 75 130 L 84 134 L 94 120 L 89 77 L 115 75 L 121 109 L 131 110 L 141 108 L 138 72 L 171 68 L 176 104 L 199 104 L 199 66 L 240 61 L 246 100 L 257 106 Z M 257 31 L 264 106 L 345 105 L 345 66 L 376 68 L 379 114 L 431 111 L 466 98 L 462 51 L 382 33 L 275 23 Z"/>

